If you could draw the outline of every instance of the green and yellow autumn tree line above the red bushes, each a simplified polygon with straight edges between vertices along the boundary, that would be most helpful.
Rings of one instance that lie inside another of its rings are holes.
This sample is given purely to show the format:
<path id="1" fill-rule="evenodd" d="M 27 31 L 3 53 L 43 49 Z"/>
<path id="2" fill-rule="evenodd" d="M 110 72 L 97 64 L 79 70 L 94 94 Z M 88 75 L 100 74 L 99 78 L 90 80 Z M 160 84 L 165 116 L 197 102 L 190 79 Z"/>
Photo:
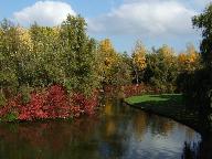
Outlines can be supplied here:
<path id="1" fill-rule="evenodd" d="M 205 14 L 194 17 L 193 25 L 205 29 Z M 87 98 L 108 85 L 141 83 L 163 93 L 183 92 L 193 97 L 193 85 L 200 82 L 193 78 L 205 75 L 210 83 L 211 30 L 203 31 L 201 53 L 192 44 L 181 53 L 169 45 L 147 50 L 140 41 L 131 53 L 119 53 L 109 39 L 89 38 L 86 26 L 81 15 L 67 15 L 57 26 L 34 23 L 28 29 L 3 20 L 0 24 L 0 105 L 7 105 L 18 94 L 28 103 L 32 92 L 51 85 L 63 86 L 68 94 L 83 94 Z"/>

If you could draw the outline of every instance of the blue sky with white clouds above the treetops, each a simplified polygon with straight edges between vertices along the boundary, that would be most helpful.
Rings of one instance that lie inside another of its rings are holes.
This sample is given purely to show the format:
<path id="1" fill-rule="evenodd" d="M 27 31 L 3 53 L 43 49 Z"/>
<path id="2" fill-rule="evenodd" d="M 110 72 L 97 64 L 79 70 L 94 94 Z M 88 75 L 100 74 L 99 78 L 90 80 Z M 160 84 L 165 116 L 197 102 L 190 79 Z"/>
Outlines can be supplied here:
<path id="1" fill-rule="evenodd" d="M 188 43 L 197 47 L 200 32 L 191 18 L 212 0 L 0 0 L 0 20 L 29 26 L 57 25 L 67 13 L 83 15 L 88 34 L 112 39 L 115 47 L 130 53 L 136 40 L 148 47 L 169 44 L 178 52 Z"/>

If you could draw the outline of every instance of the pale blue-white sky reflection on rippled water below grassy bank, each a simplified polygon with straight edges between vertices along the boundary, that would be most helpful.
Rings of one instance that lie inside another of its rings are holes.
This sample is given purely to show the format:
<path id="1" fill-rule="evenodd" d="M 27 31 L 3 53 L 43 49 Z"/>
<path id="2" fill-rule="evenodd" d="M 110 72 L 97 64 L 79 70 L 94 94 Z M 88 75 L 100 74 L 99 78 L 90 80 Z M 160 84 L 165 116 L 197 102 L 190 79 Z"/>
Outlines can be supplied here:
<path id="1" fill-rule="evenodd" d="M 131 132 L 125 158 L 181 158 L 184 141 L 198 142 L 201 140 L 201 136 L 189 127 L 171 123 L 172 129 L 166 135 L 156 134 L 149 125 L 147 126 L 148 130 L 140 139 Z"/>

